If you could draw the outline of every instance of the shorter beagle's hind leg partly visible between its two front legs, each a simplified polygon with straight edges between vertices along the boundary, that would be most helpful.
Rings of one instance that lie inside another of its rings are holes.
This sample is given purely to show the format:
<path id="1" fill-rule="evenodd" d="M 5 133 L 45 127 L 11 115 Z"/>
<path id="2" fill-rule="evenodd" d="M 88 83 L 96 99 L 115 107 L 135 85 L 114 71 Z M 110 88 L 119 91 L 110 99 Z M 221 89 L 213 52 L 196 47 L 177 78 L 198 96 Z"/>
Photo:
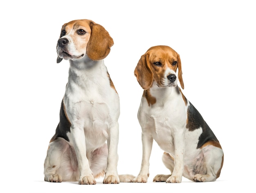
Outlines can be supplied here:
<path id="1" fill-rule="evenodd" d="M 164 152 L 164 154 L 162 156 L 162 161 L 164 163 L 164 166 L 166 166 L 166 168 L 168 168 L 170 170 L 170 172 L 173 173 L 173 169 L 174 169 L 173 157 L 171 157 L 170 154 Z M 166 182 L 166 180 L 170 176 L 171 176 L 171 174 L 169 174 L 169 175 L 158 174 L 154 177 L 153 182 Z"/>

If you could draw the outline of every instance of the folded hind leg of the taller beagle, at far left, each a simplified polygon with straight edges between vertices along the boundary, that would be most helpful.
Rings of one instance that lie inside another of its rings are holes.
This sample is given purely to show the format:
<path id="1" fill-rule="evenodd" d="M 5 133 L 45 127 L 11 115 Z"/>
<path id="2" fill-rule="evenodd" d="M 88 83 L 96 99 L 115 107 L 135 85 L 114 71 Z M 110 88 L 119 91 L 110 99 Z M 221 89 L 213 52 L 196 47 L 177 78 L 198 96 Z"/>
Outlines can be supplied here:
<path id="1" fill-rule="evenodd" d="M 74 177 L 76 170 L 76 155 L 67 141 L 63 138 L 58 138 L 50 142 L 44 163 L 45 181 L 76 180 L 76 177 Z"/>

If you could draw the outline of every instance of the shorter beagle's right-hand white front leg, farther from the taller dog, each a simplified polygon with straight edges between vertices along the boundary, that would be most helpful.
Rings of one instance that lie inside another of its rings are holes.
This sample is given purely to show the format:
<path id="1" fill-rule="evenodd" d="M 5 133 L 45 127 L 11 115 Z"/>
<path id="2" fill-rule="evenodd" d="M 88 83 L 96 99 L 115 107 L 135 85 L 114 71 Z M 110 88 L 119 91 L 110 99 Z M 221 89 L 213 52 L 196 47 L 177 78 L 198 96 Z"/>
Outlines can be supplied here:
<path id="1" fill-rule="evenodd" d="M 175 147 L 174 169 L 172 175 L 166 180 L 166 183 L 180 183 L 184 170 L 184 130 L 177 130 L 173 135 Z"/>

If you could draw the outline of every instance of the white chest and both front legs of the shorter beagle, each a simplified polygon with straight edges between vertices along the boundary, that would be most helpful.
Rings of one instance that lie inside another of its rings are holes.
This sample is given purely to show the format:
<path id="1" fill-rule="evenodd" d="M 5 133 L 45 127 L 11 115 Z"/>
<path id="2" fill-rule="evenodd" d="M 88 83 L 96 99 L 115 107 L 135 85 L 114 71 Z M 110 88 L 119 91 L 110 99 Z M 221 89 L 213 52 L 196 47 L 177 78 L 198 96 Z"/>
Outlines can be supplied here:
<path id="1" fill-rule="evenodd" d="M 153 83 L 150 91 L 152 96 L 156 97 L 157 104 L 161 105 L 154 105 L 152 107 L 148 105 L 144 97 L 141 99 L 138 119 L 142 129 L 142 144 L 145 155 L 143 155 L 141 171 L 135 181 L 146 182 L 148 179 L 149 163 L 147 162 L 154 139 L 160 148 L 176 158 L 176 163 L 179 165 L 176 165 L 170 181 L 180 182 L 183 172 L 182 163 L 185 148 L 186 107 L 182 98 L 177 97 L 173 87 L 159 88 Z"/>

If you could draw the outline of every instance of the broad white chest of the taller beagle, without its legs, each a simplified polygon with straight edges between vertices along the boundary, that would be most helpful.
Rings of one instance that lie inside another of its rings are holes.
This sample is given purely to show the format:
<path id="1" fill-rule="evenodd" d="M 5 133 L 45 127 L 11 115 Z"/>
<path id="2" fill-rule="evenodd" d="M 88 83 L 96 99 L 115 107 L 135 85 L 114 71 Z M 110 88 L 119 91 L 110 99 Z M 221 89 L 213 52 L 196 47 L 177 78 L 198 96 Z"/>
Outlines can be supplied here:
<path id="1" fill-rule="evenodd" d="M 64 96 L 67 117 L 73 128 L 84 130 L 87 147 L 101 146 L 108 129 L 117 124 L 119 96 L 110 86 L 106 70 L 98 74 L 72 73 Z"/>

